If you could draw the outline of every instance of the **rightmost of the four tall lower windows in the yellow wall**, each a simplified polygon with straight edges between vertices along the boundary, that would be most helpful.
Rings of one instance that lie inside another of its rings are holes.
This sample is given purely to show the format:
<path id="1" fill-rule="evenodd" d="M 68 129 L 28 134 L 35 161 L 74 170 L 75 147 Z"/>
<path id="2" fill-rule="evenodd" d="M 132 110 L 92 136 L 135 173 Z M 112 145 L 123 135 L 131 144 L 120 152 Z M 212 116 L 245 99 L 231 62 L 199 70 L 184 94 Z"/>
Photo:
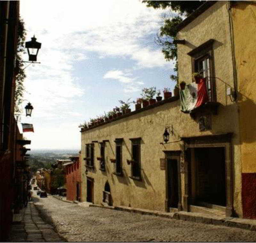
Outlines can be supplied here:
<path id="1" fill-rule="evenodd" d="M 132 163 L 131 163 L 131 174 L 132 179 L 141 179 L 140 175 L 140 137 L 130 138 L 132 141 Z"/>

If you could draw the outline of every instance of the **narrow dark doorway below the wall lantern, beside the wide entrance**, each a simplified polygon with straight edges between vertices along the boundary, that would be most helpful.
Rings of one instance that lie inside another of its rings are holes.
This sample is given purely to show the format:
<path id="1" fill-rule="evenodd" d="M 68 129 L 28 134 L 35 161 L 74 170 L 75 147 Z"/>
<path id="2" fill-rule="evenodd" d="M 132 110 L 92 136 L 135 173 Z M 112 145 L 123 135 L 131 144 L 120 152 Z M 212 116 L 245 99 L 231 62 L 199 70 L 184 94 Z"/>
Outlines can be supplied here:
<path id="1" fill-rule="evenodd" d="M 168 207 L 178 208 L 178 168 L 177 160 L 167 159 L 167 187 L 168 187 Z"/>

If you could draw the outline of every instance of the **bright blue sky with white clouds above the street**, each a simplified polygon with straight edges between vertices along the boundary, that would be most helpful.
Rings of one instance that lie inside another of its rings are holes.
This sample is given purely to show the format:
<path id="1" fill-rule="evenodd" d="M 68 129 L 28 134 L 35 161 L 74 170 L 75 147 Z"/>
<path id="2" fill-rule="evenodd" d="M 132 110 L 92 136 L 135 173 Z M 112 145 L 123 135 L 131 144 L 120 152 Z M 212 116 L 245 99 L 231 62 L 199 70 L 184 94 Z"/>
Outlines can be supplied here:
<path id="1" fill-rule="evenodd" d="M 164 13 L 174 16 L 139 0 L 20 0 L 26 41 L 35 35 L 42 43 L 41 63 L 25 69 L 21 105 L 20 123 L 34 127 L 23 133 L 31 150 L 80 150 L 80 123 L 120 106 L 119 100 L 136 101 L 144 87 L 173 90 L 174 63 L 155 43 Z M 31 117 L 25 115 L 28 101 Z"/>

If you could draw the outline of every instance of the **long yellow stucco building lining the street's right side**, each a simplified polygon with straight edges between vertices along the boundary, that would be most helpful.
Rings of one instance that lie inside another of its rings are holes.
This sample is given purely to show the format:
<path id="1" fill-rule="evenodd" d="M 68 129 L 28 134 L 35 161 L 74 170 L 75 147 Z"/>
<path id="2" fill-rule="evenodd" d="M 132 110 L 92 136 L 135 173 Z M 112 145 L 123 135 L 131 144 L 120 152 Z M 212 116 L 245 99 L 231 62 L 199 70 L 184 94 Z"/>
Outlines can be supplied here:
<path id="1" fill-rule="evenodd" d="M 82 129 L 82 201 L 166 212 L 214 208 L 226 216 L 255 217 L 243 204 L 245 174 L 256 180 L 255 64 L 248 57 L 255 50 L 244 44 L 250 31 L 239 31 L 240 19 L 254 23 L 254 13 L 255 4 L 209 1 L 179 25 L 179 82 L 199 87 L 191 74 L 200 72 L 205 104 L 184 113 L 180 98 L 172 97 Z M 255 207 L 255 201 L 249 204 Z"/>

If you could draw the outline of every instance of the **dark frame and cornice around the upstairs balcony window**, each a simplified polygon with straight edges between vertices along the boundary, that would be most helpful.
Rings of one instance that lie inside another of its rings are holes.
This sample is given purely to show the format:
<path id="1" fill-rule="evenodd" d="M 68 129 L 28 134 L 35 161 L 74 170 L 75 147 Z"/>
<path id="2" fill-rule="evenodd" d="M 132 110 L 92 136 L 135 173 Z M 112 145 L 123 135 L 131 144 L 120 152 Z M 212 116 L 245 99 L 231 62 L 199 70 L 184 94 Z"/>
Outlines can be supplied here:
<path id="1" fill-rule="evenodd" d="M 210 85 L 207 82 L 207 94 L 209 94 L 209 90 L 211 92 L 211 96 L 209 97 L 209 102 L 216 102 L 216 83 L 214 78 L 214 56 L 213 56 L 213 43 L 214 40 L 210 39 L 203 43 L 202 45 L 196 47 L 192 51 L 188 52 L 187 54 L 191 56 L 191 66 L 192 66 L 192 73 L 198 72 L 196 68 L 196 63 L 200 60 L 208 59 L 209 60 L 209 75 L 207 75 Z M 192 82 L 194 80 L 192 79 Z M 210 87 L 209 87 L 210 86 Z"/>

